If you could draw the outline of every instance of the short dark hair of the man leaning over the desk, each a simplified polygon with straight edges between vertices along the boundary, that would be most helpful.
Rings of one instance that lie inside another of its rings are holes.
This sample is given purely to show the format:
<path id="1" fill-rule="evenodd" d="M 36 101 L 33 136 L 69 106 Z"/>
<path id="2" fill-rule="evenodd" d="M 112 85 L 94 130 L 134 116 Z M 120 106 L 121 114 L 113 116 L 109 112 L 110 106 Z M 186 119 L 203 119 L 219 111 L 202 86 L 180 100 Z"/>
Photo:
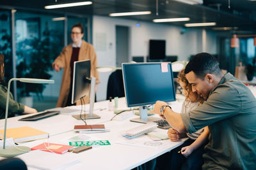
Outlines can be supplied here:
<path id="1" fill-rule="evenodd" d="M 185 74 L 193 71 L 197 78 L 204 79 L 206 74 L 221 75 L 219 62 L 209 53 L 196 54 L 187 64 Z"/>

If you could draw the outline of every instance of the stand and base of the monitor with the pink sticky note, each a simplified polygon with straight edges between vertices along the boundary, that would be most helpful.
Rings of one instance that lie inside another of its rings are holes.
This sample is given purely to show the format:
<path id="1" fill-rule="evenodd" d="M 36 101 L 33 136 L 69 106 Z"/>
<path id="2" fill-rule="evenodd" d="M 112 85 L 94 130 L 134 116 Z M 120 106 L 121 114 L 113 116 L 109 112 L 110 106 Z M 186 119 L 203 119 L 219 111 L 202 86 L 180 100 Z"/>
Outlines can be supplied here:
<path id="1" fill-rule="evenodd" d="M 142 124 L 147 124 L 149 122 L 156 122 L 158 120 L 161 120 L 161 118 L 157 117 L 148 117 L 147 113 L 147 107 L 146 106 L 140 106 L 140 118 L 132 118 L 131 122 L 138 122 Z"/>

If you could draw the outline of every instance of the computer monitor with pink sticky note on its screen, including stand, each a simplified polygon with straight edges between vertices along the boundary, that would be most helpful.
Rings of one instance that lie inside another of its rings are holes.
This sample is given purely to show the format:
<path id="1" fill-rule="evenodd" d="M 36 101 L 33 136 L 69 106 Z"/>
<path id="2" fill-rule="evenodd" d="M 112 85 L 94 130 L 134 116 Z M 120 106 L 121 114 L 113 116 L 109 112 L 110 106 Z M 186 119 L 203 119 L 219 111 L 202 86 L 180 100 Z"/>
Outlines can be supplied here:
<path id="1" fill-rule="evenodd" d="M 140 106 L 140 118 L 134 122 L 154 122 L 145 106 L 156 101 L 175 101 L 172 64 L 170 62 L 123 63 L 125 99 L 128 107 Z"/>

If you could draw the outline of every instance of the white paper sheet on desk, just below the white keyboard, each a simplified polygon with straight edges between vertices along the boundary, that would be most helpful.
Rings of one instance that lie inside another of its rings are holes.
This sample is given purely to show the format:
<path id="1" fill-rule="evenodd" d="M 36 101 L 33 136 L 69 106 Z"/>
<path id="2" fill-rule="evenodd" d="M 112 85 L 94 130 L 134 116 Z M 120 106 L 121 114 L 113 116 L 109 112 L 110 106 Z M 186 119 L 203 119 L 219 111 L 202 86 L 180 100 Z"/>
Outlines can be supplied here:
<path id="1" fill-rule="evenodd" d="M 145 148 L 162 148 L 166 145 L 169 145 L 172 143 L 170 140 L 161 140 L 161 141 L 154 141 L 150 138 L 148 138 L 147 135 L 140 136 L 138 138 L 123 138 L 120 140 L 115 141 L 115 143 L 121 144 L 121 145 L 132 145 L 132 146 L 138 146 L 138 147 L 145 147 Z"/>

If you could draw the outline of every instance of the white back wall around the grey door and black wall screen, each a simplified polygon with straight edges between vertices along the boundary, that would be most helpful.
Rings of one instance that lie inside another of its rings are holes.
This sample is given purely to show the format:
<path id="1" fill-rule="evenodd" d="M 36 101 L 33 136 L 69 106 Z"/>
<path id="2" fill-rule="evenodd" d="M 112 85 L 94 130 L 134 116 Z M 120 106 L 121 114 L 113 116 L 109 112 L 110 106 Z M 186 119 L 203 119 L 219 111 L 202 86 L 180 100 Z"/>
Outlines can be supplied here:
<path id="1" fill-rule="evenodd" d="M 141 26 L 136 27 L 137 22 L 136 20 L 93 16 L 93 46 L 97 53 L 98 66 L 115 66 L 116 25 L 128 26 L 130 29 L 129 60 L 132 56 L 148 55 L 149 39 L 165 39 L 166 55 L 178 55 L 178 60 L 188 60 L 190 55 L 202 52 L 204 40 L 201 28 L 186 28 L 186 31 L 181 34 L 183 28 L 179 26 L 140 22 Z M 205 32 L 206 45 L 204 48 L 206 52 L 217 53 L 215 32 Z M 100 37 L 103 38 L 103 42 Z M 98 48 L 99 46 L 101 48 Z M 109 74 L 111 73 L 100 73 L 97 101 L 106 99 Z"/>

